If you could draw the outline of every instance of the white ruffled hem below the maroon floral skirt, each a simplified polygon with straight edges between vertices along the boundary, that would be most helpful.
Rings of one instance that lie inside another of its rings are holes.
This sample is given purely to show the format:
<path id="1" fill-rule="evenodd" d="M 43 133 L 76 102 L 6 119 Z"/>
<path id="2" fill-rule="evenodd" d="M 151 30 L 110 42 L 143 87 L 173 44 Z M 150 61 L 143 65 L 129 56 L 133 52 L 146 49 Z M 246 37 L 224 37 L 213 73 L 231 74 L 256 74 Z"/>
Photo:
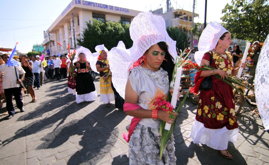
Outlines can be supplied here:
<path id="1" fill-rule="evenodd" d="M 236 142 L 238 137 L 238 128 L 228 130 L 226 127 L 220 129 L 205 128 L 204 124 L 195 120 L 190 137 L 193 143 L 205 144 L 210 148 L 225 150 L 228 142 Z"/>

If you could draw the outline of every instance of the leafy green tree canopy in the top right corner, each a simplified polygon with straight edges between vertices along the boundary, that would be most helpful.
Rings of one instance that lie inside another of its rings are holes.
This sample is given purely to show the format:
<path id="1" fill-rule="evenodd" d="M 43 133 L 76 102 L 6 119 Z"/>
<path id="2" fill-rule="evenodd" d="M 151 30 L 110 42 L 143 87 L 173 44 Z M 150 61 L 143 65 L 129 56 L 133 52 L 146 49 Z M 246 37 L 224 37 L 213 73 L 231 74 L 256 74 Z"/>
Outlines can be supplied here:
<path id="1" fill-rule="evenodd" d="M 234 38 L 263 42 L 269 33 L 268 0 L 233 0 L 222 10 L 223 26 Z"/>

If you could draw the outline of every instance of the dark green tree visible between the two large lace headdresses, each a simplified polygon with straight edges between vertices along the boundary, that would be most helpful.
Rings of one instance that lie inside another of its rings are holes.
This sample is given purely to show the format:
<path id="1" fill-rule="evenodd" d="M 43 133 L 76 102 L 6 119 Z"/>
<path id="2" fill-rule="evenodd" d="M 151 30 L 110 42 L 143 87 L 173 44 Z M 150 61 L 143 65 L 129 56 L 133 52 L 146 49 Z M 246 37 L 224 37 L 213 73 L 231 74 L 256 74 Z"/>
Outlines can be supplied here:
<path id="1" fill-rule="evenodd" d="M 188 41 L 189 37 L 187 33 L 185 33 L 183 30 L 180 30 L 175 27 L 168 27 L 166 29 L 168 35 L 176 41 L 176 47 L 181 49 L 182 51 L 184 48 L 188 47 L 190 42 Z M 184 42 L 185 42 L 185 47 L 184 47 Z"/>

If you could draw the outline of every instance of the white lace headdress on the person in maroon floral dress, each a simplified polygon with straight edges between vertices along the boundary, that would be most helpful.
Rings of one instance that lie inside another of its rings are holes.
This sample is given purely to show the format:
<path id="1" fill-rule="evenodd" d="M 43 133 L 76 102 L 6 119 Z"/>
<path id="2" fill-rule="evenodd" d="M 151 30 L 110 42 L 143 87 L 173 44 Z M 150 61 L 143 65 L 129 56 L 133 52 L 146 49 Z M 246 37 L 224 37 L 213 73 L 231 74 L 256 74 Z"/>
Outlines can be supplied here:
<path id="1" fill-rule="evenodd" d="M 195 62 L 200 65 L 203 55 L 210 50 L 213 50 L 219 38 L 225 33 L 227 30 L 221 26 L 221 24 L 216 21 L 209 23 L 205 29 L 203 30 L 201 37 L 198 42 L 198 51 L 195 52 L 194 58 Z"/>

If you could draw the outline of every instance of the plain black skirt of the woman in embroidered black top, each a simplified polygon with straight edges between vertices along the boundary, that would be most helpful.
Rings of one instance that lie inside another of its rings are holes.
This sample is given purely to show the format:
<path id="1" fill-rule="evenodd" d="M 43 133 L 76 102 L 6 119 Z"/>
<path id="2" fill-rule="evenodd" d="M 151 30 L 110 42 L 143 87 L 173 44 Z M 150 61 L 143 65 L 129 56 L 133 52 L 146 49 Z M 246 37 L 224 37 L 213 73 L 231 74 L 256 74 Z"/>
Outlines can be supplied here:
<path id="1" fill-rule="evenodd" d="M 90 73 L 77 73 L 76 76 L 76 92 L 83 95 L 95 91 L 95 86 Z"/>

